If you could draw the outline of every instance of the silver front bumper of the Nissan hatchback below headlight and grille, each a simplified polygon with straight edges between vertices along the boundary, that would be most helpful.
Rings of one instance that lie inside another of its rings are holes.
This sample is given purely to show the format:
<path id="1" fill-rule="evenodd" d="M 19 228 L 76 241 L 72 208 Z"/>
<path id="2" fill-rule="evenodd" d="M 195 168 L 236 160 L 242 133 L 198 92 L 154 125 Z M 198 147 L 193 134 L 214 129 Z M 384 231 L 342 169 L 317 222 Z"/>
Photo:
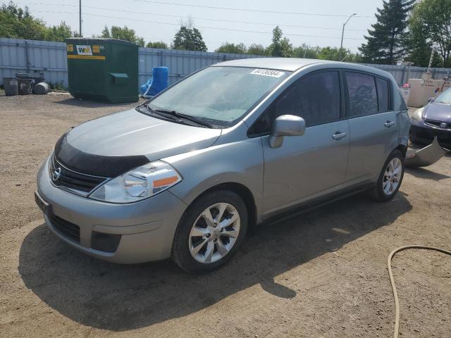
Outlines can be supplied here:
<path id="1" fill-rule="evenodd" d="M 39 169 L 37 194 L 49 204 L 44 218 L 56 236 L 75 249 L 113 263 L 143 263 L 171 256 L 173 235 L 187 208 L 178 197 L 166 191 L 132 204 L 95 201 L 51 184 L 48 161 Z M 97 234 L 118 239 L 112 252 L 93 248 Z"/>

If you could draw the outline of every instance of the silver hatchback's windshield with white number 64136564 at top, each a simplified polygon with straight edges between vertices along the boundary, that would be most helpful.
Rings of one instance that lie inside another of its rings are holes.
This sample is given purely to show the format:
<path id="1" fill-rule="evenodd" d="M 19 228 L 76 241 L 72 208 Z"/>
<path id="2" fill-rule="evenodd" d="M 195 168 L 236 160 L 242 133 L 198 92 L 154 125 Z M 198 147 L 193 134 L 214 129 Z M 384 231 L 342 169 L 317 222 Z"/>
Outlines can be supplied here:
<path id="1" fill-rule="evenodd" d="M 230 127 L 290 72 L 241 67 L 209 67 L 149 101 L 149 108 L 194 116 Z"/>

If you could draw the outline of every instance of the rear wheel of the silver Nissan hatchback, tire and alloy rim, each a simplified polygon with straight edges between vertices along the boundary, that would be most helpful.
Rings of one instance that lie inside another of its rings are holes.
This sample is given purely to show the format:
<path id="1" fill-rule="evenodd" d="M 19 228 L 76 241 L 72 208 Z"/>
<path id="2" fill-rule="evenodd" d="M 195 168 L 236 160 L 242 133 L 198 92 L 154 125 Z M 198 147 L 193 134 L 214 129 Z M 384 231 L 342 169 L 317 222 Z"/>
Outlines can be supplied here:
<path id="1" fill-rule="evenodd" d="M 385 161 L 372 197 L 376 201 L 390 201 L 401 187 L 404 177 L 404 154 L 395 149 Z"/>

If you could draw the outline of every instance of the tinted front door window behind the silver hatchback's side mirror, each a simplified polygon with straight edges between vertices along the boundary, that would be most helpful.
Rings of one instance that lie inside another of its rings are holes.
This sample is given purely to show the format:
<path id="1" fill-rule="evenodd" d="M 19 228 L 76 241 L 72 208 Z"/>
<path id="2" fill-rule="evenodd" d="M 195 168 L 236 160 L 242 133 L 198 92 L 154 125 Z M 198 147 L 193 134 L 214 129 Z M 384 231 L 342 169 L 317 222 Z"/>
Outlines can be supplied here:
<path id="1" fill-rule="evenodd" d="M 274 118 L 286 114 L 298 115 L 304 118 L 307 127 L 340 119 L 338 72 L 302 77 L 277 99 L 274 106 Z"/>

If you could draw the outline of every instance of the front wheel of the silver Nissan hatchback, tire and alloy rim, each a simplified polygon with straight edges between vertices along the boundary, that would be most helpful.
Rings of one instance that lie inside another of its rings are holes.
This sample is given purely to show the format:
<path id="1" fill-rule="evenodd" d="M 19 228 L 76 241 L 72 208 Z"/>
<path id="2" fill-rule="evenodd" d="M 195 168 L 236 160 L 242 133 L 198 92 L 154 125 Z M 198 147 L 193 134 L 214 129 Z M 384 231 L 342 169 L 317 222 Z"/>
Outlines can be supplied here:
<path id="1" fill-rule="evenodd" d="M 234 192 L 209 192 L 194 201 L 180 219 L 171 258 L 189 273 L 205 273 L 225 264 L 247 232 L 247 208 Z"/>

